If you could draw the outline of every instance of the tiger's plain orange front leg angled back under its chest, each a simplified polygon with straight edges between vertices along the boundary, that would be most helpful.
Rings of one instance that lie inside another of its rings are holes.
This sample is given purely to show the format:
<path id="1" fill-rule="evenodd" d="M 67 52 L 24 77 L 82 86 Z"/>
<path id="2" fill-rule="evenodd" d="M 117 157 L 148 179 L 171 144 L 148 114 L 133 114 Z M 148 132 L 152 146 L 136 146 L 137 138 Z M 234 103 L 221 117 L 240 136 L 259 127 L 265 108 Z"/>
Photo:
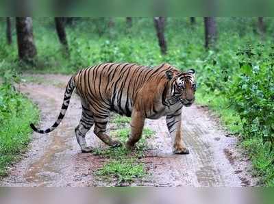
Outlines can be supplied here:
<path id="1" fill-rule="evenodd" d="M 130 136 L 125 143 L 127 149 L 134 149 L 136 142 L 138 142 L 142 136 L 142 129 L 145 124 L 145 116 L 143 116 L 142 112 L 133 110 L 132 112 L 132 122 L 130 126 L 132 131 Z"/>

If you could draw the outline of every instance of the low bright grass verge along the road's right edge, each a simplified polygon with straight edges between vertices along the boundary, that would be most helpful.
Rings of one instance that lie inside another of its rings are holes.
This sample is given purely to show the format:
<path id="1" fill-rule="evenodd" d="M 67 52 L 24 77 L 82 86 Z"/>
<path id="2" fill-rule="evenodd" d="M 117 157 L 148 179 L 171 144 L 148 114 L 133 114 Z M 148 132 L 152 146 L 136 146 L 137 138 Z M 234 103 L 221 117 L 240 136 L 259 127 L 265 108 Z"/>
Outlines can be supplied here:
<path id="1" fill-rule="evenodd" d="M 260 178 L 260 186 L 274 186 L 274 153 L 269 143 L 264 143 L 262 138 L 249 138 L 245 136 L 242 122 L 238 113 L 229 106 L 228 99 L 219 94 L 202 94 L 197 92 L 197 103 L 208 105 L 221 123 L 240 139 L 240 146 L 246 151 L 253 165 L 253 175 Z"/>

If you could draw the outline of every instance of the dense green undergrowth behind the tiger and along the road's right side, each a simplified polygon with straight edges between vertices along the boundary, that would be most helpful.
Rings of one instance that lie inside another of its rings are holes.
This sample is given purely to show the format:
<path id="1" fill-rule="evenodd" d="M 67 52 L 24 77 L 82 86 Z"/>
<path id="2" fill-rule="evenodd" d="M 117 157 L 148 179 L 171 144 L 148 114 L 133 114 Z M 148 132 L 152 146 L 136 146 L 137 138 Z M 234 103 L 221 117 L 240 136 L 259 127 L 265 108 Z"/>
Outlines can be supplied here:
<path id="1" fill-rule="evenodd" d="M 203 20 L 192 26 L 188 18 L 168 18 L 168 54 L 162 56 L 151 18 L 134 18 L 127 28 L 125 18 L 114 18 L 114 27 L 98 19 L 77 19 L 66 27 L 70 58 L 62 53 L 53 18 L 35 18 L 34 36 L 38 57 L 34 67 L 18 62 L 16 43 L 0 44 L 0 63 L 32 73 L 75 73 L 100 62 L 135 62 L 155 66 L 168 62 L 182 70 L 197 71 L 197 102 L 208 105 L 223 124 L 236 133 L 247 149 L 262 185 L 274 186 L 273 155 L 273 30 L 271 18 L 264 38 L 257 18 L 217 18 L 216 47 L 203 47 Z M 1 30 L 4 29 L 2 22 Z M 100 33 L 98 32 L 100 30 Z M 14 31 L 14 40 L 15 31 Z M 0 39 L 5 41 L 4 34 Z"/>

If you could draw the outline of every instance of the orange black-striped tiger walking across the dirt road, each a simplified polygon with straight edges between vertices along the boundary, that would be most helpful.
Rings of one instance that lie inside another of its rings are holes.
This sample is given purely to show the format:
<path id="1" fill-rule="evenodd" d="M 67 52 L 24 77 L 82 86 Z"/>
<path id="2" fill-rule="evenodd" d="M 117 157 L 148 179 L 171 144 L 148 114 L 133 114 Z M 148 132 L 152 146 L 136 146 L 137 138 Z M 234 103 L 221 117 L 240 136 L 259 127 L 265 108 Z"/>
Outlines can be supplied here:
<path id="1" fill-rule="evenodd" d="M 55 123 L 45 130 L 37 129 L 32 123 L 32 129 L 49 133 L 58 127 L 75 88 L 82 103 L 82 117 L 75 128 L 82 153 L 94 150 L 85 139 L 94 124 L 95 135 L 105 144 L 123 145 L 106 133 L 110 112 L 132 118 L 131 132 L 125 142 L 127 149 L 133 150 L 140 140 L 146 118 L 166 116 L 166 126 L 173 138 L 173 153 L 189 153 L 182 142 L 182 107 L 189 107 L 195 101 L 194 69 L 182 72 L 167 63 L 153 68 L 131 63 L 103 63 L 84 68 L 69 79 Z"/>

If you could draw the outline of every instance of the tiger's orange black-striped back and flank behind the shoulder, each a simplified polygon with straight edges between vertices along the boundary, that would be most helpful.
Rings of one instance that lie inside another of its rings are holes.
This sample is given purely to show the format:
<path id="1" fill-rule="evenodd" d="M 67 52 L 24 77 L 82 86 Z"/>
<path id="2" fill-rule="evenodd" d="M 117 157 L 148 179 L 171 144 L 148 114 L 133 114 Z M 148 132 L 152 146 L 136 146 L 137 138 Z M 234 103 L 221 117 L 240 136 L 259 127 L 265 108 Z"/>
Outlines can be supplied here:
<path id="1" fill-rule="evenodd" d="M 151 79 L 164 79 L 165 71 L 171 66 L 162 64 L 156 68 L 137 64 L 99 64 L 75 75 L 77 91 L 92 107 L 100 112 L 103 107 L 131 116 L 138 90 Z M 159 83 L 155 80 L 155 86 Z"/>

